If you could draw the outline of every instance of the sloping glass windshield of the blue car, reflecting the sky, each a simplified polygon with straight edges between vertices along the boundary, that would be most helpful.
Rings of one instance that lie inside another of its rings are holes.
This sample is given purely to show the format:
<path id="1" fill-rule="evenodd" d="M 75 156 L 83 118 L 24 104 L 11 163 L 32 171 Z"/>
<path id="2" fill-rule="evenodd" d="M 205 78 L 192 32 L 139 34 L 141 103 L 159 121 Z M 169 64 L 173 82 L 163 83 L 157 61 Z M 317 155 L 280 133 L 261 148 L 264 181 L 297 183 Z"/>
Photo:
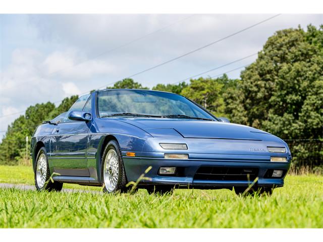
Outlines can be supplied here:
<path id="1" fill-rule="evenodd" d="M 132 114 L 162 117 L 178 115 L 178 117 L 190 116 L 214 120 L 211 115 L 185 97 L 167 92 L 145 90 L 99 91 L 97 106 L 100 117 L 118 117 L 119 113 L 125 117 Z"/>

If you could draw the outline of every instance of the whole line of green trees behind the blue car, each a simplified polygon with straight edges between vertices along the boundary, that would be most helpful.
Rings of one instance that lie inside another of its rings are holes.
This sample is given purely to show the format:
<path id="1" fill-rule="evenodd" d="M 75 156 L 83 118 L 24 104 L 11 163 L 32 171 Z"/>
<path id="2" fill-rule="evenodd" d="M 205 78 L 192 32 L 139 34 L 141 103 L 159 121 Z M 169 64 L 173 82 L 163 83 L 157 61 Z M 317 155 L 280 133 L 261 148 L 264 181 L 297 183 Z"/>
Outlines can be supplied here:
<path id="1" fill-rule="evenodd" d="M 132 79 L 107 88 L 149 89 Z M 189 83 L 157 84 L 152 90 L 181 94 L 232 123 L 270 132 L 287 143 L 293 140 L 296 166 L 322 165 L 323 25 L 277 31 L 239 79 L 201 77 Z M 67 111 L 77 98 L 65 98 L 57 107 L 51 102 L 28 107 L 9 125 L 0 143 L 0 163 L 18 164 L 25 157 L 25 137 L 31 137 L 43 120 Z M 301 141 L 317 149 L 309 151 Z"/>

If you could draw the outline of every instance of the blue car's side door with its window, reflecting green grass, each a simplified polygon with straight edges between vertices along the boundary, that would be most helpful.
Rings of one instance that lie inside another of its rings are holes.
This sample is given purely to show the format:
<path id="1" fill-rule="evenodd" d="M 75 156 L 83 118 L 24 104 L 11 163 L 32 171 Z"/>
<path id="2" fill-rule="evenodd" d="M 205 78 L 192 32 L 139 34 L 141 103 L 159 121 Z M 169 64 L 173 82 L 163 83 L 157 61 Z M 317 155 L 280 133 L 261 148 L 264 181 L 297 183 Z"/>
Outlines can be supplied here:
<path id="1" fill-rule="evenodd" d="M 89 95 L 81 96 L 69 109 L 62 123 L 53 129 L 51 163 L 53 171 L 64 176 L 89 176 L 86 151 L 91 122 L 68 119 L 71 111 L 82 111 L 90 105 Z M 84 108 L 83 108 L 84 107 Z"/>

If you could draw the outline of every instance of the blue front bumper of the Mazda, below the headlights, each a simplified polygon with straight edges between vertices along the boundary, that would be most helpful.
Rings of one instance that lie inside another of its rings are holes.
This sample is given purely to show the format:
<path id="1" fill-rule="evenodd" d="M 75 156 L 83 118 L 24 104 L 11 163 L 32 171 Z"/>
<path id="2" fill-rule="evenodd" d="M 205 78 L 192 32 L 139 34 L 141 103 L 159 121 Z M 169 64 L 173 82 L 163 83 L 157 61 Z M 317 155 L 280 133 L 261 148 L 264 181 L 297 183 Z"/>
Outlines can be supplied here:
<path id="1" fill-rule="evenodd" d="M 150 153 L 150 154 L 147 154 Z M 159 152 L 144 152 L 140 157 L 128 157 L 123 154 L 124 166 L 128 181 L 136 181 L 144 173 L 145 169 L 151 166 L 149 172 L 145 175 L 150 180 L 140 181 L 140 186 L 167 184 L 178 185 L 187 188 L 232 188 L 247 187 L 253 179 L 197 179 L 194 177 L 201 166 L 208 167 L 227 167 L 227 168 L 255 168 L 257 169 L 258 187 L 283 187 L 284 177 L 286 176 L 290 165 L 291 157 L 288 156 L 288 162 L 271 162 L 270 156 L 265 155 L 226 155 L 226 154 L 189 154 L 189 159 L 164 159 L 160 158 Z M 159 158 L 158 158 L 159 157 Z M 180 175 L 159 175 L 158 170 L 163 166 L 181 167 Z M 284 170 L 284 175 L 280 178 L 270 178 L 268 170 Z"/>

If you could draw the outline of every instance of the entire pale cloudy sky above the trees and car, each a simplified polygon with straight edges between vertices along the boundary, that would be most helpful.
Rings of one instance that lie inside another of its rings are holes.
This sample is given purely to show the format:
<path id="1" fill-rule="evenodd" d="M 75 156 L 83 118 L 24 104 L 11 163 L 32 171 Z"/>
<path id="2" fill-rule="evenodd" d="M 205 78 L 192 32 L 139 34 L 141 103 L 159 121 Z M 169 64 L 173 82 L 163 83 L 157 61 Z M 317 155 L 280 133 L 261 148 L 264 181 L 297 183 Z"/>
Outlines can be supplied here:
<path id="1" fill-rule="evenodd" d="M 0 15 L 0 138 L 29 105 L 101 88 L 274 15 Z M 277 30 L 319 26 L 323 15 L 280 15 L 136 75 L 176 83 L 259 51 Z M 256 55 L 203 74 L 217 76 Z M 238 78 L 242 69 L 228 73 Z M 13 113 L 17 113 L 11 115 Z"/>

